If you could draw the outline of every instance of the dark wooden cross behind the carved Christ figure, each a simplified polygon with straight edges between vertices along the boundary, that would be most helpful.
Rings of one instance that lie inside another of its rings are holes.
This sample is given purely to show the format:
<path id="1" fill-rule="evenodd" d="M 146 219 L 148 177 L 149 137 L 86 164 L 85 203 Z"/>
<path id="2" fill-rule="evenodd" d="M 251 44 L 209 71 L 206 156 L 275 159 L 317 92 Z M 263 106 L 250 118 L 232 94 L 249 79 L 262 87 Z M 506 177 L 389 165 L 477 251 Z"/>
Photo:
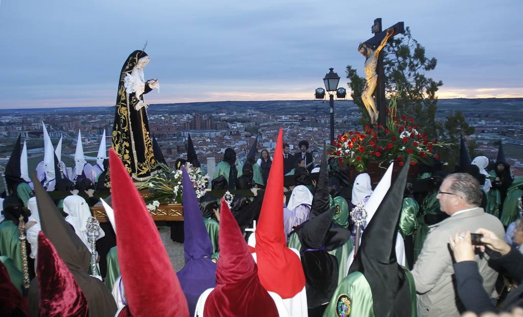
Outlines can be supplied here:
<path id="1" fill-rule="evenodd" d="M 397 22 L 395 25 L 388 29 L 393 29 L 392 37 L 396 34 L 401 34 L 405 32 L 405 27 L 403 22 Z M 371 27 L 372 33 L 374 36 L 362 44 L 371 46 L 372 48 L 377 48 L 380 45 L 381 41 L 385 38 L 386 30 L 383 31 L 381 28 L 381 18 L 374 20 L 374 25 Z M 386 120 L 386 107 L 385 107 L 385 69 L 383 68 L 383 54 L 380 52 L 378 57 L 378 66 L 376 67 L 376 73 L 378 74 L 378 85 L 376 90 L 374 90 L 374 95 L 376 96 L 376 108 L 378 108 L 378 124 L 385 125 Z"/>

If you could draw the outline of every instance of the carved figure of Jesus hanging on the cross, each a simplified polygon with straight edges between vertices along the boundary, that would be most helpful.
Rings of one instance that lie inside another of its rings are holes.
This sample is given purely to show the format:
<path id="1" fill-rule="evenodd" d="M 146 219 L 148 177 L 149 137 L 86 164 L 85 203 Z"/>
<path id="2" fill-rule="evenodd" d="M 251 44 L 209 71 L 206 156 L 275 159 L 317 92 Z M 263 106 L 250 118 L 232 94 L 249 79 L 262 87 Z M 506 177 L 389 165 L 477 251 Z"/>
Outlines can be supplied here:
<path id="1" fill-rule="evenodd" d="M 363 104 L 365 104 L 365 108 L 367 108 L 367 112 L 369 113 L 371 123 L 376 123 L 378 121 L 379 114 L 379 111 L 376 108 L 376 101 L 372 97 L 374 89 L 376 89 L 376 85 L 378 83 L 378 74 L 376 74 L 376 67 L 378 66 L 378 57 L 387 41 L 392 37 L 393 33 L 394 29 L 387 29 L 386 36 L 383 38 L 376 50 L 372 50 L 372 48 L 370 48 L 366 44 L 360 44 L 358 47 L 358 51 L 361 53 L 361 55 L 367 58 L 365 60 L 365 76 L 367 78 L 367 81 L 365 83 L 365 89 L 363 89 L 363 93 L 361 94 L 361 99 L 363 101 Z"/>

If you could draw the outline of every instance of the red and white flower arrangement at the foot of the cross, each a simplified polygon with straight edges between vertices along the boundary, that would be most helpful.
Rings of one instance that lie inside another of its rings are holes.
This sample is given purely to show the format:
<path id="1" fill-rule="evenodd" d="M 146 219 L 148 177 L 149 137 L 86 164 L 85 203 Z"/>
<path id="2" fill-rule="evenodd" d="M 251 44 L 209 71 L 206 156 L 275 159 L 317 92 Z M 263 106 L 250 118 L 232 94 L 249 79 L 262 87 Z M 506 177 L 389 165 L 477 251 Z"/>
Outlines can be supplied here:
<path id="1" fill-rule="evenodd" d="M 370 162 L 376 161 L 382 169 L 386 169 L 394 160 L 403 166 L 407 155 L 411 155 L 411 165 L 416 165 L 418 161 L 430 165 L 430 157 L 439 160 L 439 156 L 434 154 L 434 148 L 450 144 L 440 143 L 437 139 L 430 140 L 413 118 L 404 115 L 397 118 L 396 99 L 393 96 L 386 109 L 385 126 L 366 125 L 362 132 L 350 131 L 338 135 L 329 156 L 338 159 L 339 166 L 354 166 L 359 173 L 366 171 Z"/>

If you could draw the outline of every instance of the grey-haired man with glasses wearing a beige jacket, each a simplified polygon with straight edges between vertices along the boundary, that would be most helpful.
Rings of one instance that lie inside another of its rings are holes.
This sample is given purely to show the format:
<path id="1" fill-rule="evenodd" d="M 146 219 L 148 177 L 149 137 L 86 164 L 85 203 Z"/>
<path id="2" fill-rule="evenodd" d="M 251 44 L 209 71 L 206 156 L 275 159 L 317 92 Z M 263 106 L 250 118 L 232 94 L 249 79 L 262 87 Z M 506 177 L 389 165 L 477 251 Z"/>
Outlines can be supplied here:
<path id="1" fill-rule="evenodd" d="M 504 237 L 501 221 L 480 208 L 482 193 L 479 182 L 465 173 L 450 174 L 439 187 L 440 209 L 450 217 L 429 226 L 429 233 L 412 275 L 417 292 L 418 316 L 459 316 L 463 311 L 453 283 L 454 260 L 449 237 L 458 231 L 475 232 L 479 228 Z M 492 293 L 497 272 L 487 263 L 488 256 L 476 255 L 483 287 Z"/>

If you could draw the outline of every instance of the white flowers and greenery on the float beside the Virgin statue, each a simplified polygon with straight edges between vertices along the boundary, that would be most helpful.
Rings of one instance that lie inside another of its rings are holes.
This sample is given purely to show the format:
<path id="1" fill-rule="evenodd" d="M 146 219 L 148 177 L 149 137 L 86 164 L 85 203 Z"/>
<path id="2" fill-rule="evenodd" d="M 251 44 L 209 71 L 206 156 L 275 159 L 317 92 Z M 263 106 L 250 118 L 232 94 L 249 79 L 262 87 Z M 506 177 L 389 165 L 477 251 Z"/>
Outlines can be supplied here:
<path id="1" fill-rule="evenodd" d="M 181 186 L 181 170 L 173 170 L 165 164 L 156 165 L 160 171 L 138 187 L 139 190 L 147 189 L 150 195 L 144 197 L 147 209 L 154 211 L 162 204 L 181 204 L 183 186 Z M 209 175 L 202 175 L 199 167 L 193 167 L 190 163 L 185 164 L 187 174 L 194 185 L 196 197 L 205 195 Z"/>

